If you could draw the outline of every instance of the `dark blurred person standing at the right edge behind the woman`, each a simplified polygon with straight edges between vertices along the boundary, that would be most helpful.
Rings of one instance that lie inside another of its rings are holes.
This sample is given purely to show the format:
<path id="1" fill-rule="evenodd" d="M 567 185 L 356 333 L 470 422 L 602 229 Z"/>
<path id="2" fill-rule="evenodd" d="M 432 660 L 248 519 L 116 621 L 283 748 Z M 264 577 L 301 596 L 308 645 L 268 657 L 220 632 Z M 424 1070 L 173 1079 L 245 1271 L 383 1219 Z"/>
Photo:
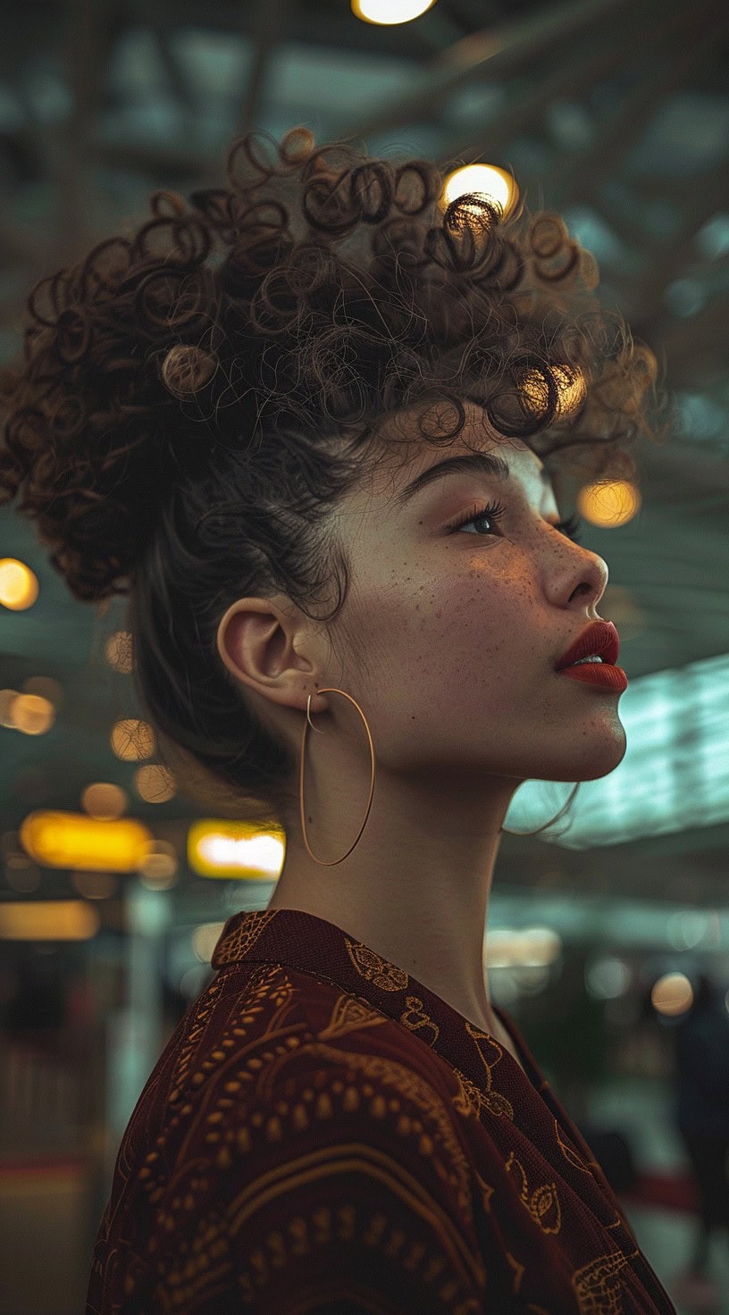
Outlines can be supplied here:
<path id="1" fill-rule="evenodd" d="M 724 998 L 699 973 L 693 1005 L 675 1031 L 678 1128 L 699 1191 L 699 1227 L 688 1269 L 676 1279 L 676 1301 L 718 1301 L 709 1274 L 716 1228 L 729 1233 L 729 1016 Z"/>

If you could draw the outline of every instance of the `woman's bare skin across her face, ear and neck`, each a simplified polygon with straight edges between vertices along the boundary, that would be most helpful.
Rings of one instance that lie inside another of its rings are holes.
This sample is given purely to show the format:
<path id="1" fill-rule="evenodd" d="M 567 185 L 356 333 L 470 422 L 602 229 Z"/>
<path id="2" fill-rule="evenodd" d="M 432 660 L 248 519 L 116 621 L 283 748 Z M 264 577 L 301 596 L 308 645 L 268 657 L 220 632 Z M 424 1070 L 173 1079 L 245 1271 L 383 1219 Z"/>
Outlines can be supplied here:
<path id="1" fill-rule="evenodd" d="M 396 473 L 383 466 L 337 508 L 351 585 L 336 622 L 309 621 L 284 596 L 239 598 L 217 642 L 297 763 L 307 697 L 329 685 L 358 701 L 376 755 L 372 807 L 354 851 L 320 867 L 297 821 L 268 907 L 336 923 L 505 1041 L 491 1010 L 484 934 L 512 796 L 529 778 L 605 776 L 626 742 L 620 694 L 554 671 L 601 619 L 608 568 L 554 527 L 561 513 L 541 459 L 490 430 L 479 406 L 466 413 L 453 447 L 413 446 L 412 462 Z M 474 448 L 503 456 L 511 481 L 447 475 L 393 506 L 393 493 L 426 466 Z M 504 502 L 501 519 L 447 533 L 490 501 Z M 312 723 L 324 734 L 307 735 L 307 832 L 317 857 L 330 860 L 362 825 L 370 751 L 341 694 L 316 694 Z"/>

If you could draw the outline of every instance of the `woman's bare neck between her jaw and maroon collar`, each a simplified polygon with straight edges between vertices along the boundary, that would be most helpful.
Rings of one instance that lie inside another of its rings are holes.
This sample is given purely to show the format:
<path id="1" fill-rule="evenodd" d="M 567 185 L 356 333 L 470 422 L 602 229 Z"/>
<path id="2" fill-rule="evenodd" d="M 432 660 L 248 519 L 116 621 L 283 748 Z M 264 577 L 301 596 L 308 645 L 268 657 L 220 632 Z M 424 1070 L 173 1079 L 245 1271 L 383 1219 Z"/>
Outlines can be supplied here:
<path id="1" fill-rule="evenodd" d="M 357 784 L 355 801 L 342 777 L 324 802 L 307 782 L 307 834 L 318 859 L 339 857 L 357 836 L 368 778 Z M 438 777 L 415 788 L 378 772 L 367 825 L 342 863 L 317 864 L 300 821 L 289 828 L 268 907 L 300 909 L 334 923 L 493 1032 L 499 1024 L 484 960 L 486 924 L 500 826 L 518 784 L 491 777 L 490 785 L 482 780 L 468 792 L 463 782 Z"/>

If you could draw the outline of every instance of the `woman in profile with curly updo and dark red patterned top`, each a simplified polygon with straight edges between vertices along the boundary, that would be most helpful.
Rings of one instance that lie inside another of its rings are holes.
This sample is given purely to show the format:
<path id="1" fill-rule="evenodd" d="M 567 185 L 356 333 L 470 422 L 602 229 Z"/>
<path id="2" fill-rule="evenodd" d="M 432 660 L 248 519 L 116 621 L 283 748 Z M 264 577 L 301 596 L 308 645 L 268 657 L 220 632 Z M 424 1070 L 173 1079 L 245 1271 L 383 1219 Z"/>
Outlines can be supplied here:
<path id="1" fill-rule="evenodd" d="M 655 362 L 557 216 L 441 193 L 250 137 L 29 300 L 4 496 L 75 597 L 129 593 L 179 788 L 287 835 L 132 1115 L 88 1312 L 674 1310 L 483 953 L 518 785 L 625 752 L 553 477 L 634 473 Z"/>

